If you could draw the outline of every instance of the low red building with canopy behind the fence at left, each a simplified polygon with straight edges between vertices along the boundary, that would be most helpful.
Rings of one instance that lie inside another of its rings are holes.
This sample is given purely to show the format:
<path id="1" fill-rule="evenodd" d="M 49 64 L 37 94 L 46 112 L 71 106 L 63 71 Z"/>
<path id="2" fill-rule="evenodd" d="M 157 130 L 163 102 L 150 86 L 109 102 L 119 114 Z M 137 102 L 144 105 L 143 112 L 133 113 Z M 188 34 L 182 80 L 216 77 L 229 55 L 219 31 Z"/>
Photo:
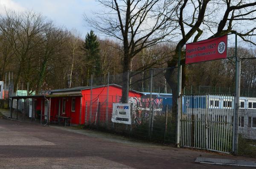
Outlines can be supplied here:
<path id="1" fill-rule="evenodd" d="M 96 120 L 105 122 L 111 120 L 112 103 L 118 103 L 121 96 L 122 86 L 115 84 L 110 84 L 109 87 L 93 86 L 92 89 L 90 86 L 86 86 L 51 90 L 49 95 L 39 95 L 32 98 L 35 109 L 32 112 L 34 112 L 34 117 L 38 113 L 37 115 L 41 114 L 41 120 L 46 120 L 47 109 L 49 108 L 50 122 L 57 121 L 58 117 L 64 117 L 63 119 L 67 117 L 75 125 L 94 123 Z M 129 91 L 129 97 L 140 98 L 141 96 L 140 92 Z"/>

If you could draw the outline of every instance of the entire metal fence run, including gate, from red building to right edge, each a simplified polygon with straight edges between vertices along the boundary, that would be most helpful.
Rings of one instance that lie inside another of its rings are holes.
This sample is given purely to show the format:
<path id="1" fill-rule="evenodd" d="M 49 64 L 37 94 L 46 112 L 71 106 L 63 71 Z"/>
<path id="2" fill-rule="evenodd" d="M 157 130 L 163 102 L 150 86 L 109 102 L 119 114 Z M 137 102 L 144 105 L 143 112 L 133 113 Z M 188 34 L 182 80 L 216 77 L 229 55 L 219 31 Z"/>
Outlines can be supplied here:
<path id="1" fill-rule="evenodd" d="M 113 123 L 112 104 L 120 103 L 122 93 L 91 90 L 83 100 L 82 125 L 156 142 L 230 153 L 234 150 L 234 117 L 239 106 L 238 149 L 240 155 L 256 157 L 256 95 L 241 89 L 240 105 L 235 103 L 234 88 L 209 86 L 183 88 L 177 100 L 177 68 L 150 69 L 93 77 L 87 89 L 108 88 L 111 84 L 140 92 L 127 97 L 131 104 L 131 125 Z M 253 86 L 250 89 L 254 89 Z M 102 90 L 103 91 L 103 90 Z M 191 93 L 196 93 L 195 95 Z M 232 94 L 231 94 L 232 93 Z M 84 95 L 84 94 L 83 94 Z M 81 100 L 82 101 L 82 100 Z M 180 112 L 178 112 L 178 106 Z M 180 116 L 180 117 L 179 117 Z M 81 122 L 81 119 L 80 119 Z M 237 130 L 236 130 L 237 131 Z"/>

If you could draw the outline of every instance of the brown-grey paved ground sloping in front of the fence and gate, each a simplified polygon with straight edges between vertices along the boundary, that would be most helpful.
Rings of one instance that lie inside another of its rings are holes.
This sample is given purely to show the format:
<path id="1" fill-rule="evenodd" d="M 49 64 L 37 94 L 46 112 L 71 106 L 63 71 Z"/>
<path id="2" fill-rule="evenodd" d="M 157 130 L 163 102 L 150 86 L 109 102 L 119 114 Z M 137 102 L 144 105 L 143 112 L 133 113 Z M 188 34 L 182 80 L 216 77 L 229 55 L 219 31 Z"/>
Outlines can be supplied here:
<path id="1" fill-rule="evenodd" d="M 244 169 L 194 163 L 197 157 L 247 159 L 128 140 L 73 127 L 0 118 L 0 169 Z"/>

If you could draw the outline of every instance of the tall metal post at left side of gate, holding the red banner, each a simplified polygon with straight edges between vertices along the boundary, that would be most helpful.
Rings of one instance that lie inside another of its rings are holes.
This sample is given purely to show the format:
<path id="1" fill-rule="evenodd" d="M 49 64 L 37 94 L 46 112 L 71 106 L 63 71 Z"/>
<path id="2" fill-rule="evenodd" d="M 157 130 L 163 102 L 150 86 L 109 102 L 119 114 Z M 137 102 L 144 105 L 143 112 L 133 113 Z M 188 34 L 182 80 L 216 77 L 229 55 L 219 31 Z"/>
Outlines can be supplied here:
<path id="1" fill-rule="evenodd" d="M 178 60 L 178 90 L 177 90 L 177 126 L 176 126 L 176 145 L 180 147 L 180 106 L 181 106 L 181 77 L 182 77 L 182 65 L 180 65 L 180 46 L 179 46 L 179 60 Z"/>

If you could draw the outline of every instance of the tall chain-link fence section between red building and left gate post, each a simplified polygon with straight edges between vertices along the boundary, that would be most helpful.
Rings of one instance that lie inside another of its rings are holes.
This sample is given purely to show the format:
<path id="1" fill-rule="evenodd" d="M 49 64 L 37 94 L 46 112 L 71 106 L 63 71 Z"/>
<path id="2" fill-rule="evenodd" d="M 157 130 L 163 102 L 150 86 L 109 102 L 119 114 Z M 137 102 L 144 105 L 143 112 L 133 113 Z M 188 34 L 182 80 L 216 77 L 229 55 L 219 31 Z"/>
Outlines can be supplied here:
<path id="1" fill-rule="evenodd" d="M 169 82 L 166 77 L 171 78 Z M 99 78 L 92 75 L 88 82 L 90 93 L 84 95 L 84 98 L 90 98 L 84 100 L 84 125 L 135 138 L 175 144 L 177 104 L 176 98 L 172 97 L 173 86 L 170 83 L 177 88 L 176 68 L 107 74 Z M 122 90 L 129 89 L 126 92 L 132 107 L 131 125 L 111 121 L 112 105 L 122 102 L 123 92 L 109 88 L 113 85 Z"/>

